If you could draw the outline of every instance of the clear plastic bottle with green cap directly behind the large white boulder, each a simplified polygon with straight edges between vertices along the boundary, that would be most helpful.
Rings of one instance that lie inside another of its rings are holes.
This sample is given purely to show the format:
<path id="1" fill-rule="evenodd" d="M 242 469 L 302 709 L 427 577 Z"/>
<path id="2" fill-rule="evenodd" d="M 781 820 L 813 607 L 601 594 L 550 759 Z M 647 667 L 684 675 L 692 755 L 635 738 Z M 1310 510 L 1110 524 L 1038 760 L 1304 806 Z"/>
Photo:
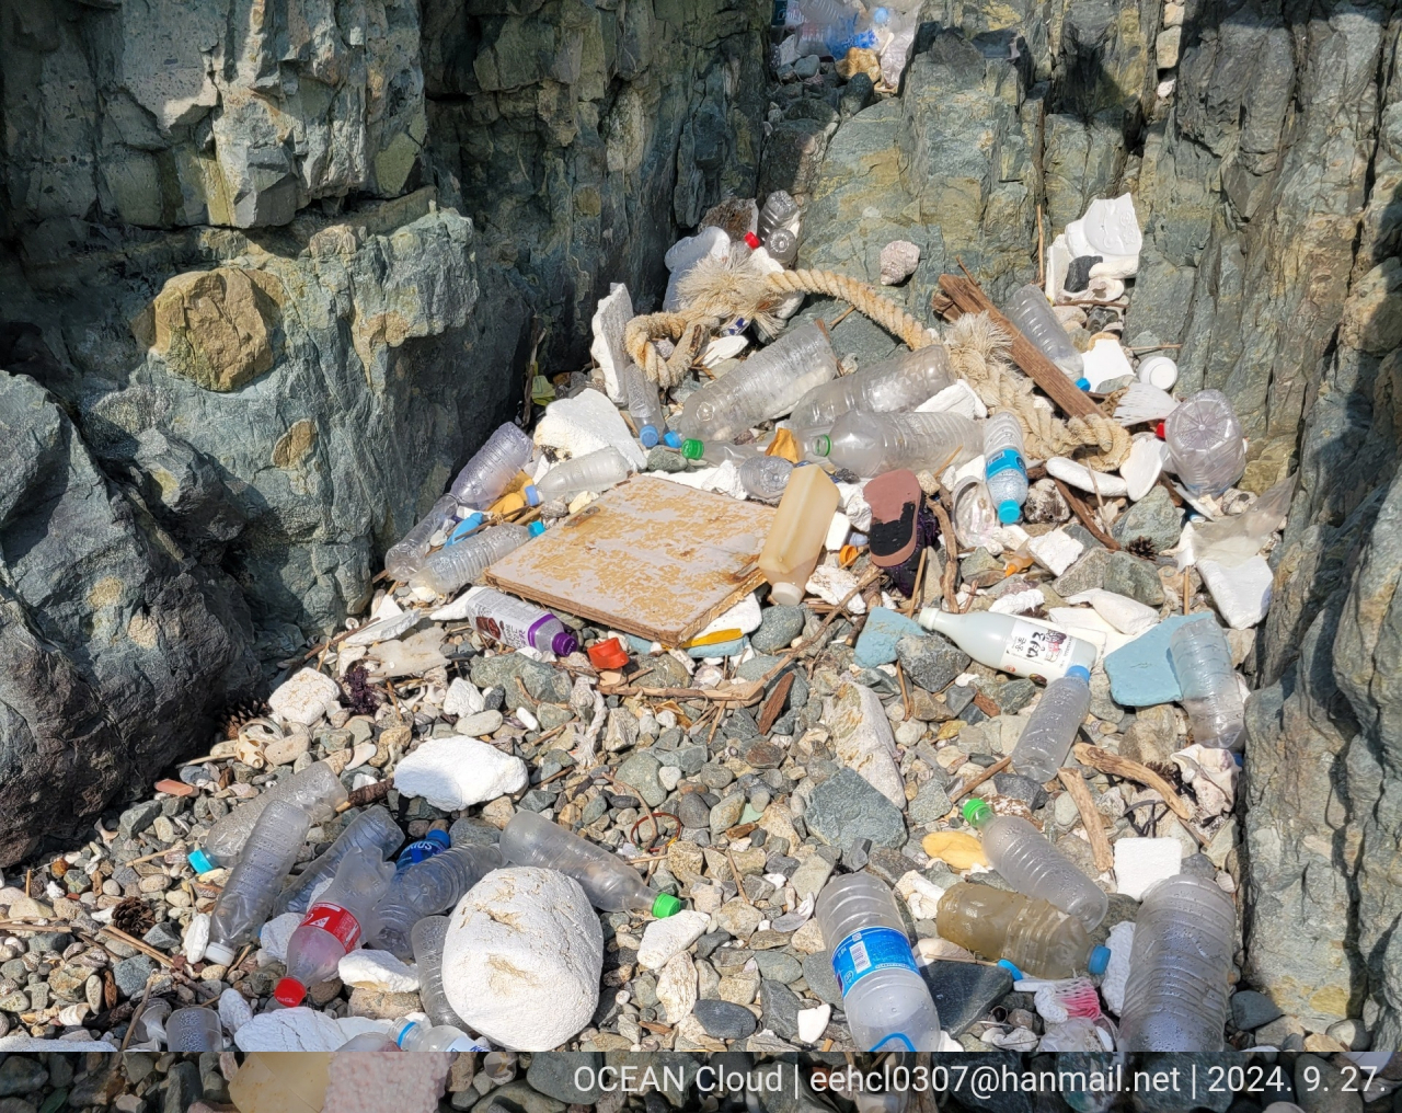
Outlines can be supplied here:
<path id="1" fill-rule="evenodd" d="M 534 812 L 517 812 L 502 831 L 502 858 L 513 866 L 555 869 L 573 878 L 604 913 L 651 913 L 659 920 L 681 901 L 648 887 L 631 865 Z"/>

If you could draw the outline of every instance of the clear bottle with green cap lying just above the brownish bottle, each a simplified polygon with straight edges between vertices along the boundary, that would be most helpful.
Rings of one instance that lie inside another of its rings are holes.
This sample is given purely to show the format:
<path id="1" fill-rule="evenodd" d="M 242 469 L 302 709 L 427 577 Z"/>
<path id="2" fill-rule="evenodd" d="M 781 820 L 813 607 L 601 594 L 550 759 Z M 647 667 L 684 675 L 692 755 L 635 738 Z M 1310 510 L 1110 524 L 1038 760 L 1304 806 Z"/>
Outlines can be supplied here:
<path id="1" fill-rule="evenodd" d="M 1025 897 L 1039 897 L 1095 931 L 1110 907 L 1105 892 L 1046 835 L 1019 816 L 995 816 L 983 800 L 965 802 L 963 817 L 983 840 L 998 875 Z"/>

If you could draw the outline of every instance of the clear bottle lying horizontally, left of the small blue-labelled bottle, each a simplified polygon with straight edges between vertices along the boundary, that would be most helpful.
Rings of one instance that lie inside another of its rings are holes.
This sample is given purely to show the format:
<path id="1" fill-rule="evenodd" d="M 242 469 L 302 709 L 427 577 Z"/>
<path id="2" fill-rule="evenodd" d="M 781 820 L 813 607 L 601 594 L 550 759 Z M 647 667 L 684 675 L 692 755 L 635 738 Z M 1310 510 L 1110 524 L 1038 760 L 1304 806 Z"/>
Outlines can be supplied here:
<path id="1" fill-rule="evenodd" d="M 958 467 L 983 451 L 979 426 L 959 414 L 843 414 L 830 433 L 812 437 L 810 456 L 862 478 L 899 468 Z"/>

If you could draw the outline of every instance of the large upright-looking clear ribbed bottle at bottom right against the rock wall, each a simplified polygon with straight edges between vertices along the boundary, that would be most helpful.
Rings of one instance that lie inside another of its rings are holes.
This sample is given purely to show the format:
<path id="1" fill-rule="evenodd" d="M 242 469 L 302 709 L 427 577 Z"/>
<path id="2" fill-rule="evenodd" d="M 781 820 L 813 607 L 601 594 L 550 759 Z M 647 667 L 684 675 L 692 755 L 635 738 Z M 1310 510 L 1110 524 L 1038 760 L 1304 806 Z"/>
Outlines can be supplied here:
<path id="1" fill-rule="evenodd" d="M 1210 878 L 1179 873 L 1144 894 L 1119 1050 L 1223 1050 L 1235 932 L 1232 899 Z"/>

